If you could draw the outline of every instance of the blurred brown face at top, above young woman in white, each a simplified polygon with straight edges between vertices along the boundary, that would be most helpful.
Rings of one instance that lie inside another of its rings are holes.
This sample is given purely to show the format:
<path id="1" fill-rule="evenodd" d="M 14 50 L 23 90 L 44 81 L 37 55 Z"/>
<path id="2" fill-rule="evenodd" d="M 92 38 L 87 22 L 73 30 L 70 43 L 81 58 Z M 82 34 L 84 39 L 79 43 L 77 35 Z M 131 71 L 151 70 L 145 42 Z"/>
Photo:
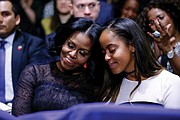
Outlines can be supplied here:
<path id="1" fill-rule="evenodd" d="M 121 11 L 121 17 L 133 20 L 136 19 L 139 7 L 139 2 L 137 0 L 126 0 Z"/>

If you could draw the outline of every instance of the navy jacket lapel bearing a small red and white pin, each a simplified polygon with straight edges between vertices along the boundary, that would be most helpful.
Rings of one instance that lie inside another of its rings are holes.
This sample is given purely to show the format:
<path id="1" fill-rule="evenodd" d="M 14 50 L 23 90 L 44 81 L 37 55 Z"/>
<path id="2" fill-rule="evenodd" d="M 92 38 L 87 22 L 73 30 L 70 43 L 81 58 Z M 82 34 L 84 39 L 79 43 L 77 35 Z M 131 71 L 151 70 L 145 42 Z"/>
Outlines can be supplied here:
<path id="1" fill-rule="evenodd" d="M 16 32 L 12 47 L 12 79 L 13 84 L 18 81 L 21 72 L 22 54 L 24 51 L 24 39 L 19 31 Z"/>

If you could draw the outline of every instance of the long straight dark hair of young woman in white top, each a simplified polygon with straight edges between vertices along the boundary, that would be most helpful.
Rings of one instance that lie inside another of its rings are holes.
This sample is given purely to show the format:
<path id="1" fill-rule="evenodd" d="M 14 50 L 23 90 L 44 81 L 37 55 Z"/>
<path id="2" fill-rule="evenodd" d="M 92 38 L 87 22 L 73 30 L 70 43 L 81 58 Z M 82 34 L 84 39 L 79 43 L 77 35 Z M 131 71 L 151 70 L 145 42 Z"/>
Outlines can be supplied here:
<path id="1" fill-rule="evenodd" d="M 112 31 L 115 35 L 122 38 L 127 46 L 134 44 L 134 67 L 138 85 L 133 89 L 131 94 L 141 84 L 141 76 L 148 78 L 157 75 L 159 70 L 163 69 L 150 47 L 150 42 L 146 40 L 141 28 L 135 21 L 128 18 L 116 18 L 108 22 L 103 27 L 103 30 L 105 29 Z M 107 77 L 106 82 L 104 82 L 105 85 L 103 85 L 106 88 L 102 90 L 101 100 L 108 101 L 111 99 L 111 102 L 115 102 L 125 75 L 125 72 L 122 72 L 117 75 L 110 74 Z"/>

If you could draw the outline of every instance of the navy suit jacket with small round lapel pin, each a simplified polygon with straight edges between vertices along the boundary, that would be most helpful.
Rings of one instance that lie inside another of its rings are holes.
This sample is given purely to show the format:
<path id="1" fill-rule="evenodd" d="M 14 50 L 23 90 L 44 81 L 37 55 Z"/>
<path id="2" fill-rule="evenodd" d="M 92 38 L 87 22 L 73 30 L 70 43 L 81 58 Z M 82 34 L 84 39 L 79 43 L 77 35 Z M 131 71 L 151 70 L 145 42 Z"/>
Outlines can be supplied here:
<path id="1" fill-rule="evenodd" d="M 14 89 L 26 65 L 44 63 L 46 59 L 44 49 L 43 39 L 17 30 L 12 47 L 12 81 Z"/>

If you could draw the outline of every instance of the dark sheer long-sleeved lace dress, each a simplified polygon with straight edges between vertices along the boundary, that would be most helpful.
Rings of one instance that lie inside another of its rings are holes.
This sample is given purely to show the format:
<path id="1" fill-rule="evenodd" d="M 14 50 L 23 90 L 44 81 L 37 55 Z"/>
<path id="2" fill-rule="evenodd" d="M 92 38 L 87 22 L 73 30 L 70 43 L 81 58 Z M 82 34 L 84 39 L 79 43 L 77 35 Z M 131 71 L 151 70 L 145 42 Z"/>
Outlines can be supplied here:
<path id="1" fill-rule="evenodd" d="M 87 77 L 64 74 L 55 62 L 29 65 L 22 72 L 13 101 L 13 115 L 44 110 L 62 110 L 80 103 L 95 102 L 97 87 Z"/>

